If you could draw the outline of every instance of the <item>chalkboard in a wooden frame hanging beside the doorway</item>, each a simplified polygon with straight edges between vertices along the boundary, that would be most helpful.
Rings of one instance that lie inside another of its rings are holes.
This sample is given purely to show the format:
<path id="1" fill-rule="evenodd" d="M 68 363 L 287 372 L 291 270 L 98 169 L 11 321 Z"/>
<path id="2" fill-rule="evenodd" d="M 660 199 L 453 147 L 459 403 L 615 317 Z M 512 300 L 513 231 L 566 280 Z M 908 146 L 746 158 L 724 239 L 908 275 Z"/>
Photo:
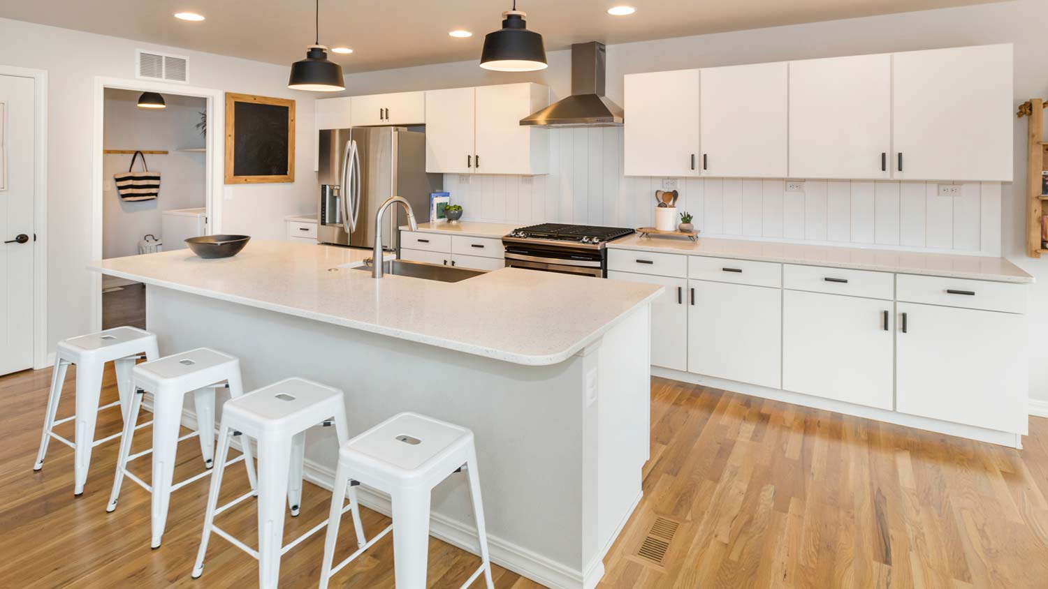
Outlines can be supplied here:
<path id="1" fill-rule="evenodd" d="M 294 182 L 294 100 L 225 93 L 225 183 Z"/>

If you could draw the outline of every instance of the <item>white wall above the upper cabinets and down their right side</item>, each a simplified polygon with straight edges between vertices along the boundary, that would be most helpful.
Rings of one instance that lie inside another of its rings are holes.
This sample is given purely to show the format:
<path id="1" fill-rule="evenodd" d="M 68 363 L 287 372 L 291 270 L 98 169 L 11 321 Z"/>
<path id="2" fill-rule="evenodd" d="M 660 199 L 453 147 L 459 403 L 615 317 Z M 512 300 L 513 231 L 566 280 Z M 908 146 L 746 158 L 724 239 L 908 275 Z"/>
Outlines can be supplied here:
<path id="1" fill-rule="evenodd" d="M 1048 2 L 1017 0 L 829 21 L 756 30 L 704 35 L 608 47 L 608 95 L 623 104 L 623 75 L 645 71 L 803 60 L 833 55 L 907 51 L 962 45 L 1013 43 L 1016 52 L 1014 103 L 1048 95 L 1048 44 L 1044 27 Z M 476 61 L 385 70 L 346 76 L 347 94 L 400 90 L 424 90 L 482 84 L 541 82 L 552 87 L 556 97 L 570 93 L 570 61 L 567 51 L 547 55 L 549 68 L 530 74 L 494 74 Z M 948 99 L 944 96 L 943 99 Z M 1030 292 L 1030 395 L 1048 401 L 1048 256 L 1027 258 L 1024 253 L 1026 201 L 1026 119 L 1014 121 L 1014 182 L 1002 186 L 1003 254 L 1039 282 Z M 548 180 L 548 179 L 547 179 Z M 637 198 L 651 198 L 649 195 Z M 533 203 L 533 201 L 532 201 Z"/>

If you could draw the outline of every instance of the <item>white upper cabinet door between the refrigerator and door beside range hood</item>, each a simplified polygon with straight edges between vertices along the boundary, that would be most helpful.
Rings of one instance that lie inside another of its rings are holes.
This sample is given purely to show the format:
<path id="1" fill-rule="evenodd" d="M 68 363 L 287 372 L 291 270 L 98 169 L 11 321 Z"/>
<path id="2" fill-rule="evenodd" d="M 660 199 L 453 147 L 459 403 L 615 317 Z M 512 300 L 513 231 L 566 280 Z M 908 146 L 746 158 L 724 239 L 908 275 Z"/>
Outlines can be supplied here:
<path id="1" fill-rule="evenodd" d="M 425 93 L 425 171 L 473 172 L 474 89 Z"/>

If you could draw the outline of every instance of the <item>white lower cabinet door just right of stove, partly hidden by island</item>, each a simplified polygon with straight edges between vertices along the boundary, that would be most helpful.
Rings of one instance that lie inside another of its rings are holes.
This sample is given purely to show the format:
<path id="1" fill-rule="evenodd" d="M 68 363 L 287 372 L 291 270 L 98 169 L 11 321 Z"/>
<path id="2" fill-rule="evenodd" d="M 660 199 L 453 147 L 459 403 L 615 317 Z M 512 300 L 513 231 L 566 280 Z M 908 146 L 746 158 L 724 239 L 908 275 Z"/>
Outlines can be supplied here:
<path id="1" fill-rule="evenodd" d="M 652 302 L 652 364 L 674 370 L 687 369 L 687 280 L 630 272 L 608 272 L 614 280 L 665 287 Z"/>

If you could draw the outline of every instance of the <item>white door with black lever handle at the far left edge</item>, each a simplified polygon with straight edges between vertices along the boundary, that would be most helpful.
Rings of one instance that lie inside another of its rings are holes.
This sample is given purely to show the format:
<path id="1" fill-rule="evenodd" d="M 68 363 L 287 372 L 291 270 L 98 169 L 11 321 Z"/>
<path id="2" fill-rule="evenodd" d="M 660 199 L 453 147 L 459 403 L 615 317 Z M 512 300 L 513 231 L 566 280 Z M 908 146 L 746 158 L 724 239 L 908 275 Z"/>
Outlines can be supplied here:
<path id="1" fill-rule="evenodd" d="M 32 367 L 35 84 L 0 75 L 0 375 Z"/>

